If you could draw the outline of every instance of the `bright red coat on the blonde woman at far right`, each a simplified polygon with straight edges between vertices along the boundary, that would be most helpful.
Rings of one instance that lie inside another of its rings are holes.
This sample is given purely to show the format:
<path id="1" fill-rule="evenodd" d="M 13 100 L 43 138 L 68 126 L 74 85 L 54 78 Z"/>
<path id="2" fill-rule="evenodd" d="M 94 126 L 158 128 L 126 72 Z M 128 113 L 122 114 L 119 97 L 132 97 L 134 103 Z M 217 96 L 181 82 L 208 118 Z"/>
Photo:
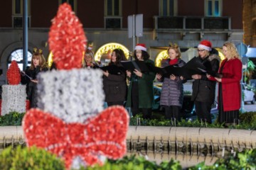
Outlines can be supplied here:
<path id="1" fill-rule="evenodd" d="M 221 78 L 222 91 L 220 93 L 223 96 L 223 110 L 239 110 L 241 106 L 240 80 L 242 79 L 242 62 L 237 58 L 233 60 L 225 59 L 221 62 L 221 67 L 223 67 L 223 72 Z M 211 79 L 214 78 L 211 77 Z"/>

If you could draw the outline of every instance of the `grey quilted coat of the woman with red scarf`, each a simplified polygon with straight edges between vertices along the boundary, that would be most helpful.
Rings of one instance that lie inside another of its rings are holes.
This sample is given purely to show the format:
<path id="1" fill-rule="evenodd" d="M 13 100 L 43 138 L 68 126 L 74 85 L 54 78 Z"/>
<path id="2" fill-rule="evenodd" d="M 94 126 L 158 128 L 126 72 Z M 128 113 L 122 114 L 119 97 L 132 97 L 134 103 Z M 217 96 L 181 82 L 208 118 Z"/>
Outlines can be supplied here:
<path id="1" fill-rule="evenodd" d="M 169 66 L 169 61 L 166 60 L 162 66 Z M 186 64 L 183 60 L 179 59 L 178 63 L 175 66 L 182 67 Z M 185 81 L 181 80 L 179 77 L 176 77 L 175 80 L 164 77 L 160 105 L 161 106 L 182 106 L 183 103 L 183 83 Z"/>

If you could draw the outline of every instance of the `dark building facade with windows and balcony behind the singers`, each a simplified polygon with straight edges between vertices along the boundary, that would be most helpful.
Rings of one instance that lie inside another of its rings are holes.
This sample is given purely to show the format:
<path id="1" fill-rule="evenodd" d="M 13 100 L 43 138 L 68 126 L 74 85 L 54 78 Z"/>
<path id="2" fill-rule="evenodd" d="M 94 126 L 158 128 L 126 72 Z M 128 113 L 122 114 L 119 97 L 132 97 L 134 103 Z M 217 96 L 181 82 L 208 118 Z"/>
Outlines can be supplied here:
<path id="1" fill-rule="evenodd" d="M 143 14 L 143 36 L 136 41 L 146 44 L 154 61 L 170 42 L 181 47 L 184 60 L 196 55 L 193 47 L 201 40 L 210 40 L 213 47 L 220 48 L 225 41 L 240 43 L 245 40 L 246 44 L 251 41 L 251 45 L 256 45 L 253 42 L 253 26 L 256 25 L 249 24 L 256 21 L 253 14 L 256 8 L 243 12 L 242 0 L 28 0 L 28 55 L 31 56 L 33 47 L 38 47 L 48 58 L 50 21 L 64 2 L 73 7 L 87 40 L 93 42 L 94 52 L 109 42 L 119 43 L 132 51 L 127 17 L 133 14 Z M 244 2 L 246 8 L 255 6 L 255 0 Z M 0 4 L 1 85 L 6 84 L 6 70 L 11 60 L 15 59 L 22 65 L 23 0 L 1 1 Z M 243 23 L 245 15 L 249 14 L 253 15 Z M 247 26 L 245 30 L 250 35 L 244 34 L 243 26 Z"/>

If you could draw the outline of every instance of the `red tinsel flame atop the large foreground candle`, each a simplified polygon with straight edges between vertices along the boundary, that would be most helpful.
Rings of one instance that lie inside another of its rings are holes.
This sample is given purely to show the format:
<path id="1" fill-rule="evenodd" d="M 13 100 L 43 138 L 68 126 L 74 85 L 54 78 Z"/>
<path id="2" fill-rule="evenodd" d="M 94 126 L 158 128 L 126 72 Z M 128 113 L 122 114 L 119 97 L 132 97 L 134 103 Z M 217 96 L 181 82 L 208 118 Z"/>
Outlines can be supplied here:
<path id="1" fill-rule="evenodd" d="M 86 42 L 82 24 L 71 6 L 67 3 L 60 5 L 49 33 L 49 47 L 53 52 L 53 62 L 56 67 L 81 68 Z"/>

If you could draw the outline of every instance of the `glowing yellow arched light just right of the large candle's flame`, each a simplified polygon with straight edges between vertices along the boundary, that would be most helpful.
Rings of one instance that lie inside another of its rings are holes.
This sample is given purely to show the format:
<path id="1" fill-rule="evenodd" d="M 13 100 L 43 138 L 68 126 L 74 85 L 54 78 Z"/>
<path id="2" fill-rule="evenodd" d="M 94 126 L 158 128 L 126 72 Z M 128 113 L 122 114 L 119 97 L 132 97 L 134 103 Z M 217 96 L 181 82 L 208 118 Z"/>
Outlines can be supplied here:
<path id="1" fill-rule="evenodd" d="M 95 61 L 100 61 L 100 58 L 102 57 L 102 55 L 106 55 L 110 51 L 112 52 L 112 50 L 114 50 L 116 48 L 123 50 L 124 55 L 127 58 L 127 60 L 129 59 L 129 50 L 127 49 L 127 47 L 124 47 L 124 45 L 121 45 L 119 43 L 110 42 L 105 45 L 102 45 L 99 48 L 99 50 L 97 50 L 97 52 L 95 53 Z"/>

